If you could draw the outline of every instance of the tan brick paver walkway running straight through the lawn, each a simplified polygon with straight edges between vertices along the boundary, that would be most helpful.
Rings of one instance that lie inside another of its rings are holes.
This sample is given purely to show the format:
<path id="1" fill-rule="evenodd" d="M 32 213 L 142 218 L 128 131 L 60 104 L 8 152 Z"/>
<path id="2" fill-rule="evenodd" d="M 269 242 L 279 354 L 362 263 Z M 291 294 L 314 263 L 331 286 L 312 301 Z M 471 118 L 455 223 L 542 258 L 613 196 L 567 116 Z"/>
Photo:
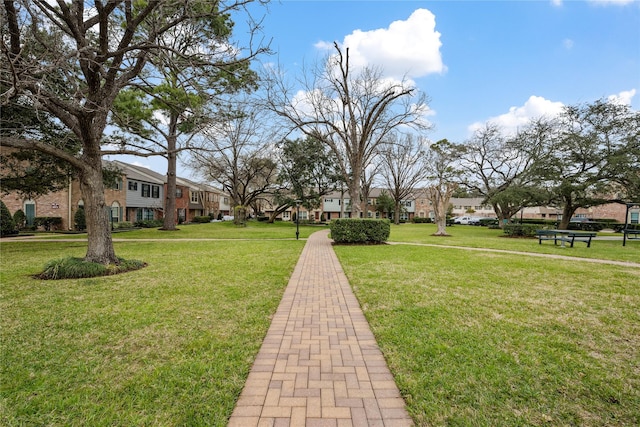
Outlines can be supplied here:
<path id="1" fill-rule="evenodd" d="M 307 240 L 229 427 L 412 425 L 327 234 Z"/>

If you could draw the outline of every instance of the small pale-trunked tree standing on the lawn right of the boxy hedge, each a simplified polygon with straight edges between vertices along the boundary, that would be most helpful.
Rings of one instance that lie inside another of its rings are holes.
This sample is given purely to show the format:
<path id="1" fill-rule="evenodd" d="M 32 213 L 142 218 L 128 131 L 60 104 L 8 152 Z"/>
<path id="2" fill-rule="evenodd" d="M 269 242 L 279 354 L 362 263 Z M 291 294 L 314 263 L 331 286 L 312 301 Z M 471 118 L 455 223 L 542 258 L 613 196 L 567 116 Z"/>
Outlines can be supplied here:
<path id="1" fill-rule="evenodd" d="M 460 179 L 460 170 L 456 167 L 459 149 L 446 139 L 432 144 L 430 148 L 426 160 L 430 184 L 425 192 L 427 199 L 431 201 L 434 221 L 438 227 L 434 236 L 448 236 L 447 210 Z"/>

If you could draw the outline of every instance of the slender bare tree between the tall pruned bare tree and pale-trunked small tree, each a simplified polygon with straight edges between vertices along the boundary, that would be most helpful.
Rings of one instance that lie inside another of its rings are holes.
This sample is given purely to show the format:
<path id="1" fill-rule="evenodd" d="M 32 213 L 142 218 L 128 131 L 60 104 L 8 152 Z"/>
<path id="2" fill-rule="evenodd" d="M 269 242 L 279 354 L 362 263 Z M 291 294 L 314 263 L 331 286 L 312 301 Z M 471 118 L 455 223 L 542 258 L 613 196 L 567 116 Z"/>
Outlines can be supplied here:
<path id="1" fill-rule="evenodd" d="M 381 175 L 394 201 L 394 223 L 400 223 L 402 201 L 429 175 L 425 165 L 426 142 L 414 135 L 394 135 L 380 149 Z"/>

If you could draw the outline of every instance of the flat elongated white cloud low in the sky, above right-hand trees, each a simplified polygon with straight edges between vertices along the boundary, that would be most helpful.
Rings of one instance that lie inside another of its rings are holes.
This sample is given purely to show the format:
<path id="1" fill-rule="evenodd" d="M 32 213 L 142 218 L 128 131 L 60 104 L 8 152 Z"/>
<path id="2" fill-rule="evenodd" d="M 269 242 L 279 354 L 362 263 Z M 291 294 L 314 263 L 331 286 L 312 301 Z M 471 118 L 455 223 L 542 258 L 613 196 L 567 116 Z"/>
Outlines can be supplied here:
<path id="1" fill-rule="evenodd" d="M 531 119 L 553 117 L 558 115 L 563 107 L 562 102 L 549 101 L 541 96 L 533 95 L 521 107 L 511 107 L 508 113 L 491 117 L 487 121 L 502 127 L 506 133 L 515 133 L 518 128 L 525 126 Z M 468 130 L 473 133 L 482 126 L 483 123 L 476 122 L 470 125 Z"/>

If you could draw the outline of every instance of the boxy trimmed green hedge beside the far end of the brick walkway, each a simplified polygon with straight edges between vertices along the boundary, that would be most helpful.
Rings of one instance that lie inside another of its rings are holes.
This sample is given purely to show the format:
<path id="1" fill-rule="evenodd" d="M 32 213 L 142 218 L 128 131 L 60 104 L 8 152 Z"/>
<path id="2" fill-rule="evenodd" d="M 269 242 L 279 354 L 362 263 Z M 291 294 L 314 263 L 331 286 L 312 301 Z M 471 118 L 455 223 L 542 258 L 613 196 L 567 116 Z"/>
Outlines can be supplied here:
<path id="1" fill-rule="evenodd" d="M 336 243 L 383 243 L 391 233 L 391 223 L 386 219 L 336 219 L 329 228 Z"/>

